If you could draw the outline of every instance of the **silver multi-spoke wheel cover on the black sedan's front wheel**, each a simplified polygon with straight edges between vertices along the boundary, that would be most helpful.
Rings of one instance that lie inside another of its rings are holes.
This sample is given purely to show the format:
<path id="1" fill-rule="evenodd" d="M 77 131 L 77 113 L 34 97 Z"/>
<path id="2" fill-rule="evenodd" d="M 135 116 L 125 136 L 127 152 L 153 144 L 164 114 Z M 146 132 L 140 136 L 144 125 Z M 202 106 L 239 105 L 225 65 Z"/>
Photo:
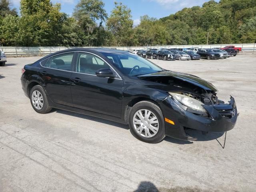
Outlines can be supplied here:
<path id="1" fill-rule="evenodd" d="M 159 122 L 156 115 L 147 109 L 138 110 L 133 116 L 133 127 L 138 134 L 151 138 L 158 133 Z"/>

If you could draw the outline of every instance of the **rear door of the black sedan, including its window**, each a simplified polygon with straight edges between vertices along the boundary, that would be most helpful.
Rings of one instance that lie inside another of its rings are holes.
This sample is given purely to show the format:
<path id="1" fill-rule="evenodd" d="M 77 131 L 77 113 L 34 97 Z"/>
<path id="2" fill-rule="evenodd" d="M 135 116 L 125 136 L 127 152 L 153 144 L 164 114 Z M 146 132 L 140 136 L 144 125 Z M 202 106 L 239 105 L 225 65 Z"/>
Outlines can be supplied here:
<path id="1" fill-rule="evenodd" d="M 74 52 L 52 56 L 40 62 L 38 71 L 44 81 L 44 88 L 56 104 L 73 106 L 70 90 L 70 77 L 74 62 Z"/>

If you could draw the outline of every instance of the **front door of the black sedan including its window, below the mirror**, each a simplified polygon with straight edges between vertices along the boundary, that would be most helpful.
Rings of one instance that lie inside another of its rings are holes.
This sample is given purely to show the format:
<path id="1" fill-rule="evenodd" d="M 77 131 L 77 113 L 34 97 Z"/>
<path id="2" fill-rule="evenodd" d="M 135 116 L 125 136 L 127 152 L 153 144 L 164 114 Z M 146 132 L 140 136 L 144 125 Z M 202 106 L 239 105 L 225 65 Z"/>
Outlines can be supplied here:
<path id="1" fill-rule="evenodd" d="M 95 72 L 101 68 L 110 66 L 94 54 L 78 54 L 71 74 L 74 107 L 120 118 L 123 80 L 96 76 Z"/>

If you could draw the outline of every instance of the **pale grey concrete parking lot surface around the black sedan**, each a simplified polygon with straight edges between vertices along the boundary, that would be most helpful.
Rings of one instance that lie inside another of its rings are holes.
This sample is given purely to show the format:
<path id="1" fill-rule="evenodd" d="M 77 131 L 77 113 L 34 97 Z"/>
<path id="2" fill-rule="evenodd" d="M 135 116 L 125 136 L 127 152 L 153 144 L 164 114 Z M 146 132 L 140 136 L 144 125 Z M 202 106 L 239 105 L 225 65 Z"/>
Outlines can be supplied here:
<path id="1" fill-rule="evenodd" d="M 220 60 L 152 60 L 210 81 L 240 113 L 233 130 L 197 141 L 136 140 L 127 125 L 52 110 L 36 113 L 21 68 L 39 58 L 8 58 L 0 67 L 0 192 L 253 192 L 256 189 L 256 55 Z M 223 148 L 224 146 L 224 148 Z"/>

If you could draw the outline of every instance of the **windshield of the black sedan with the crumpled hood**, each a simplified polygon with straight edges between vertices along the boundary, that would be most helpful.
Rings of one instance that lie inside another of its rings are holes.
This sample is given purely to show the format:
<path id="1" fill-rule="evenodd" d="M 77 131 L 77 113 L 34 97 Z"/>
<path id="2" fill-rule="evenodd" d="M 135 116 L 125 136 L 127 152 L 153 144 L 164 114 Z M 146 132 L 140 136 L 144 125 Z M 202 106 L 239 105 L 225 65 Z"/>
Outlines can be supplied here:
<path id="1" fill-rule="evenodd" d="M 164 69 L 153 64 L 152 62 L 132 53 L 106 53 L 116 68 L 123 74 L 137 76 L 164 71 Z"/>

